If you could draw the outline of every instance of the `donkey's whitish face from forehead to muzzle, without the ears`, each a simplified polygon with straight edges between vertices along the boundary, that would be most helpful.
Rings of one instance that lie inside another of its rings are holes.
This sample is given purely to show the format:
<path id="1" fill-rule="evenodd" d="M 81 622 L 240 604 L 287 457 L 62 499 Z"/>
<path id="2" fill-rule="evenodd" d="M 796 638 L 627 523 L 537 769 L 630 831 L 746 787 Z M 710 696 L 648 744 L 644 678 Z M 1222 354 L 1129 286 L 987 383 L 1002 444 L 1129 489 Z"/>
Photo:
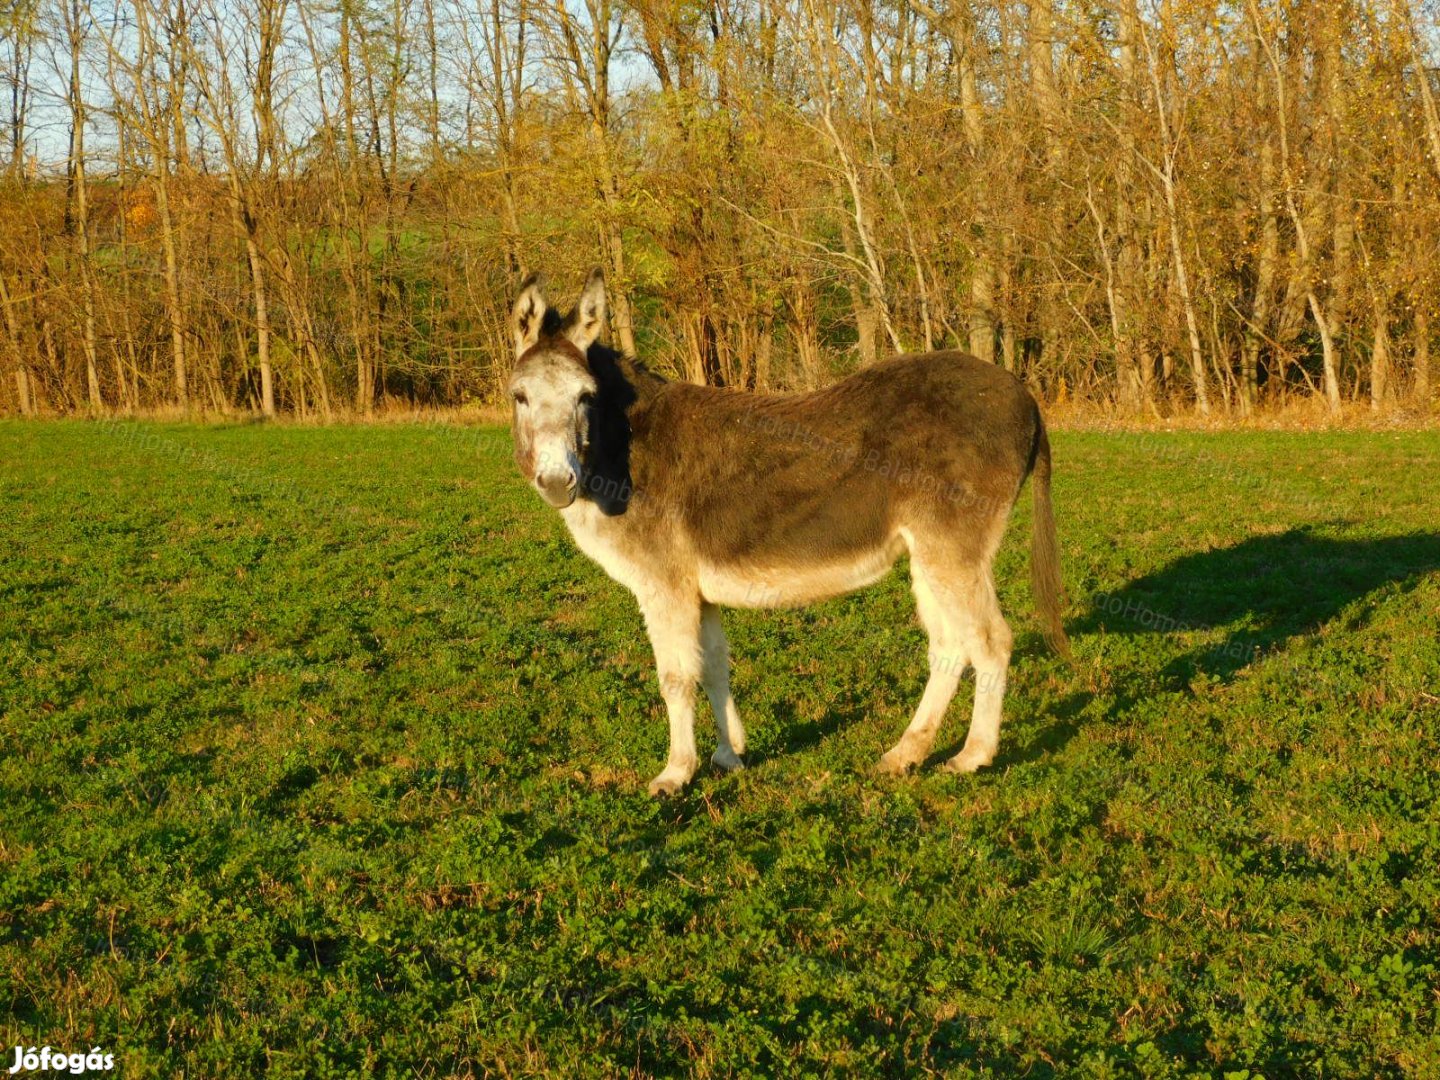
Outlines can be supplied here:
<path id="1" fill-rule="evenodd" d="M 559 348 L 527 356 L 510 380 L 516 462 L 553 507 L 567 507 L 580 485 L 595 377 Z"/>

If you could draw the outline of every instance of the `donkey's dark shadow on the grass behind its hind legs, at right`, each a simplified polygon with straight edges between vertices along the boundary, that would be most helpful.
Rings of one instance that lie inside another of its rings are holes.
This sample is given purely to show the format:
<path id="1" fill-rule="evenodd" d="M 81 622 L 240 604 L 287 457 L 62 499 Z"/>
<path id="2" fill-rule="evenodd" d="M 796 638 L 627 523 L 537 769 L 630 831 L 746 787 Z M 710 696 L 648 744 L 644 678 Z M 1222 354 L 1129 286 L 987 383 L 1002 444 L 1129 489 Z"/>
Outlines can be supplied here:
<path id="1" fill-rule="evenodd" d="M 1156 680 L 1184 685 L 1197 675 L 1223 683 L 1266 652 L 1316 632 L 1356 600 L 1377 590 L 1414 589 L 1440 572 L 1440 533 L 1344 539 L 1315 527 L 1256 536 L 1230 547 L 1181 556 L 1136 577 L 1125 588 L 1092 598 L 1084 613 L 1067 621 L 1071 638 L 1093 634 L 1169 635 L 1224 629 L 1208 641 L 1172 655 L 1159 670 L 1110 671 L 1115 703 L 1125 711 L 1149 693 Z M 1372 605 L 1352 615 L 1368 621 Z M 1212 636 L 1212 635 L 1207 635 Z M 996 765 L 1017 765 L 1058 752 L 1080 730 L 1094 694 L 1067 696 L 1051 713 L 1047 730 L 1009 755 L 1001 743 Z"/>

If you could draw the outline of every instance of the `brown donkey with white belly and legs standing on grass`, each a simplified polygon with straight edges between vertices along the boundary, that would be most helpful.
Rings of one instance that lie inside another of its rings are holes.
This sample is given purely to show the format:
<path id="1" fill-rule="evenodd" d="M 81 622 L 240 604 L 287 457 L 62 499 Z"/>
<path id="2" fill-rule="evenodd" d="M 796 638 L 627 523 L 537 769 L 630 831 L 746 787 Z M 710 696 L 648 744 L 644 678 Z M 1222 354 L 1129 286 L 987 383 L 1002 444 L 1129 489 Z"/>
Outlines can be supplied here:
<path id="1" fill-rule="evenodd" d="M 580 550 L 639 602 L 670 713 L 670 759 L 651 793 L 694 776 L 697 683 L 716 717 L 711 762 L 743 766 L 721 606 L 837 596 L 877 582 L 901 553 L 930 675 L 880 769 L 924 759 L 966 667 L 971 730 L 945 768 L 989 765 L 1011 652 L 991 564 L 1031 475 L 1032 586 L 1047 639 L 1070 654 L 1035 399 L 958 351 L 897 356 L 812 393 L 668 382 L 598 341 L 605 310 L 599 271 L 563 318 L 539 275 L 523 284 L 511 311 L 516 464 Z"/>

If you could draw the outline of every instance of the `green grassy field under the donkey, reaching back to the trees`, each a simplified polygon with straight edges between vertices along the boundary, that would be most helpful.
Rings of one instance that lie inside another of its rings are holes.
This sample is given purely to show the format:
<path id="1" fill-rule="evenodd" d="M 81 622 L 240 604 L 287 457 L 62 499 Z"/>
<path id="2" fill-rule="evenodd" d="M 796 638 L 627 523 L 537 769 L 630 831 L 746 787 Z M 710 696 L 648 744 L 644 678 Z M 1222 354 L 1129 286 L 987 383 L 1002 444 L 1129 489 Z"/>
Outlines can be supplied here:
<path id="1" fill-rule="evenodd" d="M 727 613 L 749 769 L 657 802 L 503 429 L 0 425 L 0 1068 L 1440 1076 L 1440 435 L 1054 442 L 994 768 L 873 773 L 897 573 Z"/>

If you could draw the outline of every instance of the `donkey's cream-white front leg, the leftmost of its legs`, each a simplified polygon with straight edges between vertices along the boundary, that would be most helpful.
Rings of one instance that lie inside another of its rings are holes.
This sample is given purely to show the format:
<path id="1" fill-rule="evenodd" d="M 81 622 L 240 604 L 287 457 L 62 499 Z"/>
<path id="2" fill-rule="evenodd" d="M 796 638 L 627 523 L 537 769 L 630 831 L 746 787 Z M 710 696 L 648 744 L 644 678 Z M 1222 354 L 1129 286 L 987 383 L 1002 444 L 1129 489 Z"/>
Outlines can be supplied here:
<path id="1" fill-rule="evenodd" d="M 674 795 L 696 775 L 696 683 L 700 681 L 700 598 L 657 592 L 641 598 L 655 648 L 660 693 L 670 713 L 670 760 L 651 795 Z"/>

